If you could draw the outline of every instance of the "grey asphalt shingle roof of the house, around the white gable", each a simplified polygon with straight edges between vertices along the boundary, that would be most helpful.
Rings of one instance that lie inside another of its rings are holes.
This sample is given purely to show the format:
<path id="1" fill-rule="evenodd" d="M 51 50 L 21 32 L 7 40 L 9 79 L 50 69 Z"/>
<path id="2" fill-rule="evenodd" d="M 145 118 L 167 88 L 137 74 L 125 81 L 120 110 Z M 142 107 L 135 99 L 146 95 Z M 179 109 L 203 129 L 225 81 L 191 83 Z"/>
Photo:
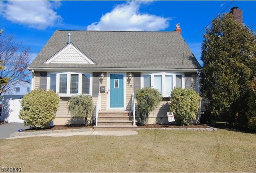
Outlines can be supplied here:
<path id="1" fill-rule="evenodd" d="M 43 64 L 70 42 L 91 64 Z M 56 30 L 38 56 L 33 68 L 153 68 L 200 69 L 201 66 L 178 32 Z"/>

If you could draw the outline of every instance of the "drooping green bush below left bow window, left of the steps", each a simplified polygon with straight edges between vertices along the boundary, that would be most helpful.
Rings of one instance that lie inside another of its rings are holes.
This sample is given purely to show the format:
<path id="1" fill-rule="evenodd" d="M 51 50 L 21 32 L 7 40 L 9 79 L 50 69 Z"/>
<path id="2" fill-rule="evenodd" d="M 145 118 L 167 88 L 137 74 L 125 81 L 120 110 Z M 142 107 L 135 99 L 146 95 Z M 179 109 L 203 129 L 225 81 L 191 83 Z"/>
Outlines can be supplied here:
<path id="1" fill-rule="evenodd" d="M 85 125 L 88 124 L 87 117 L 94 110 L 92 97 L 90 95 L 76 95 L 68 100 L 68 111 L 74 117 L 84 117 Z"/>

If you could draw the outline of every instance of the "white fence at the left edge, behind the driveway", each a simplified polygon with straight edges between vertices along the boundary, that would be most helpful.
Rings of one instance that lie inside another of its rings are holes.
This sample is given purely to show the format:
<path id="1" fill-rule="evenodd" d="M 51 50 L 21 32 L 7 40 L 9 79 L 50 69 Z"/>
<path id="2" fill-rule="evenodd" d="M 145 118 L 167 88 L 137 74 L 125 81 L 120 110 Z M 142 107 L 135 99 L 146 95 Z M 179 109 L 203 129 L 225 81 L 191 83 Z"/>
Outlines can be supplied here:
<path id="1" fill-rule="evenodd" d="M 2 102 L 2 121 L 8 123 L 23 123 L 22 119 L 19 119 L 19 113 L 21 108 L 21 99 L 3 99 Z"/>

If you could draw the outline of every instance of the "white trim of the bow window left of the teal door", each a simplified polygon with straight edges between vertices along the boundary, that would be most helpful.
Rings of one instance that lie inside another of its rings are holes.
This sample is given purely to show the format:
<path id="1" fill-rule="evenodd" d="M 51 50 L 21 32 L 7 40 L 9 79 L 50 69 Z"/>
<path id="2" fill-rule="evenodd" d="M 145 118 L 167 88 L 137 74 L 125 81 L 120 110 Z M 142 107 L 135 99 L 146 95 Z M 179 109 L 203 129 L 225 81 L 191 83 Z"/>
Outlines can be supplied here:
<path id="1" fill-rule="evenodd" d="M 89 74 L 90 75 L 90 88 L 89 95 L 92 95 L 92 72 L 52 72 L 48 73 L 47 76 L 47 90 L 50 89 L 50 74 L 56 74 L 56 93 L 59 94 L 60 97 L 71 97 L 75 95 L 82 94 L 82 75 Z M 67 74 L 67 93 L 59 93 L 60 92 L 60 74 Z M 78 74 L 78 93 L 70 93 L 70 80 L 71 74 Z M 88 94 L 84 94 L 88 95 Z"/>

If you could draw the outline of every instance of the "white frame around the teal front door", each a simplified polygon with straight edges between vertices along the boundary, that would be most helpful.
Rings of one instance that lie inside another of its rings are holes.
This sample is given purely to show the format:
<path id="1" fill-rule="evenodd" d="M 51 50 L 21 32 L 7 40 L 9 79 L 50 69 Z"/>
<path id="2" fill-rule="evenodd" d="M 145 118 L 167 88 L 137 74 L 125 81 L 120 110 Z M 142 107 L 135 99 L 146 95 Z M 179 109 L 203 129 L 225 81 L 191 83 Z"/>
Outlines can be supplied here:
<path id="1" fill-rule="evenodd" d="M 108 89 L 110 89 L 110 74 L 123 74 L 123 82 L 124 82 L 124 107 L 110 107 L 110 93 L 107 94 L 107 110 L 125 110 L 126 109 L 126 72 L 107 72 L 107 88 L 106 91 L 108 92 Z M 111 91 L 110 91 L 111 92 Z"/>

